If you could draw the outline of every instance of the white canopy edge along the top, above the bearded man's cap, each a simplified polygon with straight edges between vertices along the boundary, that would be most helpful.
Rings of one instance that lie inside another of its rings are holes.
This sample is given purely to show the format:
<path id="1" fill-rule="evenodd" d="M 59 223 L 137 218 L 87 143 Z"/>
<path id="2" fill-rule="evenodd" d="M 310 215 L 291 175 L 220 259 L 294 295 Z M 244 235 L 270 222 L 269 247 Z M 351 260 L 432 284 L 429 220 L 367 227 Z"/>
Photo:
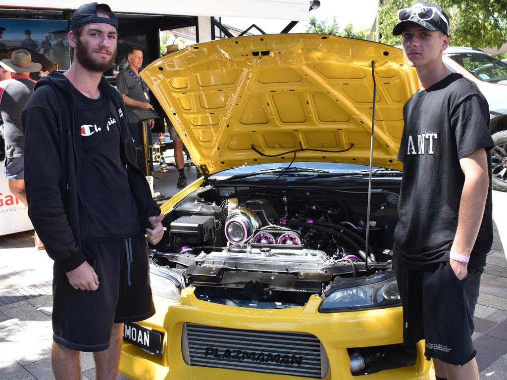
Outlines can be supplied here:
<path id="1" fill-rule="evenodd" d="M 76 9 L 88 0 L 4 0 L 2 6 Z M 152 0 L 134 2 L 125 0 L 103 0 L 115 12 L 137 14 L 185 15 L 185 16 L 230 16 L 252 18 L 274 18 L 294 21 L 309 20 L 309 0 Z M 97 0 L 97 3 L 100 3 Z"/>

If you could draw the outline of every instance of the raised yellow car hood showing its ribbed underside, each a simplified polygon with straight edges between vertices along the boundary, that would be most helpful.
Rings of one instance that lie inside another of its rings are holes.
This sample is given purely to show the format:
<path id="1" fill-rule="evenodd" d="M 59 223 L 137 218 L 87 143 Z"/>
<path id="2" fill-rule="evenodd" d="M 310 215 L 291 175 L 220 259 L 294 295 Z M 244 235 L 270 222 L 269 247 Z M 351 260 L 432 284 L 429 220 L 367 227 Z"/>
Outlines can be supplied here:
<path id="1" fill-rule="evenodd" d="M 247 36 L 189 46 L 141 77 L 210 175 L 293 159 L 369 164 L 372 62 L 373 165 L 401 169 L 403 105 L 418 82 L 400 49 L 334 35 Z"/>

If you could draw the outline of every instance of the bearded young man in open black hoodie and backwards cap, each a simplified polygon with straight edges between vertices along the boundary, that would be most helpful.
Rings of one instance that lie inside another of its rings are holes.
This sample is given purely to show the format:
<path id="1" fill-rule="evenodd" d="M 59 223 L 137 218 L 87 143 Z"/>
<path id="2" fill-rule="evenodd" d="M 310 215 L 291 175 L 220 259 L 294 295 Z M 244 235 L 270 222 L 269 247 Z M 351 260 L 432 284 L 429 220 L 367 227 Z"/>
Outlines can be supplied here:
<path id="1" fill-rule="evenodd" d="M 144 234 L 160 241 L 164 215 L 136 167 L 121 95 L 102 76 L 117 26 L 109 6 L 81 6 L 73 63 L 41 79 L 22 113 L 28 214 L 55 260 L 58 380 L 80 378 L 80 351 L 94 353 L 97 378 L 116 378 L 123 323 L 155 313 Z"/>

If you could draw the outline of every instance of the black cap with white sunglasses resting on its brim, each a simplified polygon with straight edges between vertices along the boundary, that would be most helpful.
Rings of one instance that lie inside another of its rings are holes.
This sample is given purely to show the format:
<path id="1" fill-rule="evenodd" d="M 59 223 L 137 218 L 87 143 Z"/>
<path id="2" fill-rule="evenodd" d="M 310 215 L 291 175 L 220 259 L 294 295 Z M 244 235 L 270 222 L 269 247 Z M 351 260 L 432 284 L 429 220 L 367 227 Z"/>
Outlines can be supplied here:
<path id="1" fill-rule="evenodd" d="M 398 21 L 392 29 L 393 35 L 402 34 L 409 22 L 415 22 L 428 30 L 440 30 L 449 35 L 449 16 L 438 4 L 417 2 L 409 8 L 400 9 Z"/>

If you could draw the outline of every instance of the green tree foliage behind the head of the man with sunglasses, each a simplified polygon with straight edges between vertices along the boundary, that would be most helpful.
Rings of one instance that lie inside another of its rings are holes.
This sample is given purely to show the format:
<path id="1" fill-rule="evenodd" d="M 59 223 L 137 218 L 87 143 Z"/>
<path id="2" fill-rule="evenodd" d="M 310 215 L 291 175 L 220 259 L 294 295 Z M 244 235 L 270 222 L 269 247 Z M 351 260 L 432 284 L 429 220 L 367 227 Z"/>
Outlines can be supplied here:
<path id="1" fill-rule="evenodd" d="M 413 0 L 384 0 L 379 7 L 380 42 L 400 45 L 401 37 L 392 35 L 397 10 Z M 440 0 L 438 4 L 451 20 L 451 45 L 499 48 L 507 42 L 507 0 Z"/>

